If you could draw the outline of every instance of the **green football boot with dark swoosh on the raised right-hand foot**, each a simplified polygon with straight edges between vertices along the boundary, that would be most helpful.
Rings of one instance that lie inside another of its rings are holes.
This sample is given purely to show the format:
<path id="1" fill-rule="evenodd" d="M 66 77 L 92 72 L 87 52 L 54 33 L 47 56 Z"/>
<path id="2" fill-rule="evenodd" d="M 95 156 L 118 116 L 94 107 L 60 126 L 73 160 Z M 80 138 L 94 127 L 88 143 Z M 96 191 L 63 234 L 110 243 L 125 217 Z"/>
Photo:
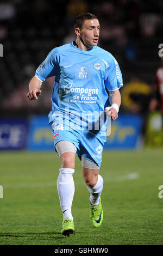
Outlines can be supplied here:
<path id="1" fill-rule="evenodd" d="M 103 221 L 103 208 L 101 198 L 98 205 L 91 205 L 90 203 L 90 220 L 93 227 L 98 228 Z"/>

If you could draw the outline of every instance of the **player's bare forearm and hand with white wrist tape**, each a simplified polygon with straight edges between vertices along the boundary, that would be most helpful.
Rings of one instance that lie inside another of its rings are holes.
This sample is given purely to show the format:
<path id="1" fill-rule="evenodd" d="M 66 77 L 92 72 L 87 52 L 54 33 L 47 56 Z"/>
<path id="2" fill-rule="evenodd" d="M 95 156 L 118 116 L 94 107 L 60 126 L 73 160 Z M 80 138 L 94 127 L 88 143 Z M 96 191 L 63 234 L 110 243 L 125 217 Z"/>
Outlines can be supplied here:
<path id="1" fill-rule="evenodd" d="M 113 92 L 109 92 L 109 101 L 111 107 L 105 108 L 107 115 L 110 115 L 111 120 L 116 120 L 118 118 L 118 109 L 121 105 L 121 94 L 119 90 L 114 90 Z"/>

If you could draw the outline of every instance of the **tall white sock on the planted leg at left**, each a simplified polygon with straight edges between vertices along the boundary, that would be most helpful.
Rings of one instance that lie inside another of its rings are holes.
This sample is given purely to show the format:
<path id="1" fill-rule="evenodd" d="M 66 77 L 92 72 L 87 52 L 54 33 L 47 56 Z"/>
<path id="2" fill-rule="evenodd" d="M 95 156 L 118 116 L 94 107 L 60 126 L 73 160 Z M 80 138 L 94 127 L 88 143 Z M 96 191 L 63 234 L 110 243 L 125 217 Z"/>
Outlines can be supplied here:
<path id="1" fill-rule="evenodd" d="M 59 176 L 57 179 L 57 189 L 60 200 L 60 206 L 63 212 L 63 221 L 66 217 L 73 220 L 71 214 L 72 200 L 74 196 L 74 181 L 73 181 L 74 169 L 60 168 Z"/>

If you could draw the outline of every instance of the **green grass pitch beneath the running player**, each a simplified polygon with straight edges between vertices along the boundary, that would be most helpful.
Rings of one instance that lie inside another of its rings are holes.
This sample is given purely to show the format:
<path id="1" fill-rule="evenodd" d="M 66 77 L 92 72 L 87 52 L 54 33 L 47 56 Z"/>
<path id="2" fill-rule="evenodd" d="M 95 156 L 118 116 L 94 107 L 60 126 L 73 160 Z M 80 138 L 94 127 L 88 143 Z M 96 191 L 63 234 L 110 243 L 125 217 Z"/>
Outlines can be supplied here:
<path id="1" fill-rule="evenodd" d="M 163 245 L 163 198 L 158 197 L 162 156 L 162 149 L 103 153 L 104 220 L 97 229 L 90 224 L 89 192 L 76 158 L 76 235 L 64 237 L 56 185 L 58 155 L 1 152 L 0 245 Z"/>

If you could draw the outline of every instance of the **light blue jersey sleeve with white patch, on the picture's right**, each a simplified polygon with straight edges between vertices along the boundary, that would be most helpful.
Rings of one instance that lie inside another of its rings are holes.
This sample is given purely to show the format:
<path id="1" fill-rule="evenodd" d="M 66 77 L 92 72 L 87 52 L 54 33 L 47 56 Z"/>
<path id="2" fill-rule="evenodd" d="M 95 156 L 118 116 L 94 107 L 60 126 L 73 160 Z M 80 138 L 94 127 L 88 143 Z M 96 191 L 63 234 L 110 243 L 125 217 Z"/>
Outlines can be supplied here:
<path id="1" fill-rule="evenodd" d="M 120 66 L 113 56 L 109 67 L 105 70 L 104 83 L 109 91 L 117 90 L 123 86 Z"/>

